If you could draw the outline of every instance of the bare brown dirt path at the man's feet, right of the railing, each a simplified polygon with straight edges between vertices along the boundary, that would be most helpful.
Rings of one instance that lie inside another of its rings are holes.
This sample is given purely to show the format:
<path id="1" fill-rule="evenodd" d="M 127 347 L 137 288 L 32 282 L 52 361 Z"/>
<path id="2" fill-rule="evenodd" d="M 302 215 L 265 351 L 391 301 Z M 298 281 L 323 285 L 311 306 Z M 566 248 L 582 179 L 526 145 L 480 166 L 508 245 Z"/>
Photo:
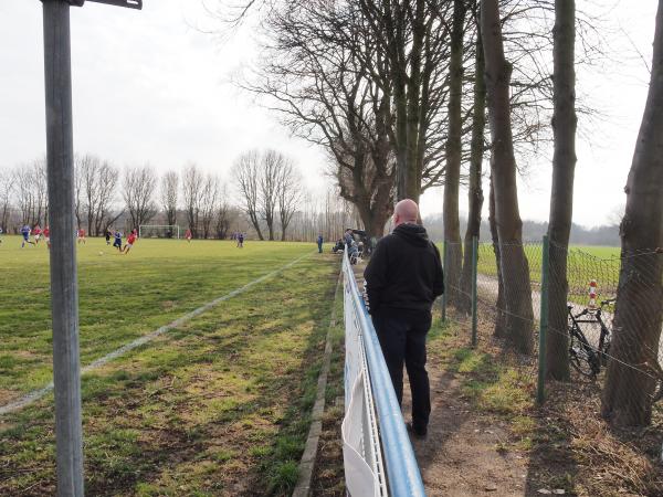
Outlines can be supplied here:
<path id="1" fill-rule="evenodd" d="M 504 422 L 473 411 L 455 374 L 429 359 L 432 412 L 425 440 L 413 440 L 429 496 L 523 496 L 527 458 L 499 447 L 508 438 Z M 409 419 L 406 385 L 403 412 Z"/>

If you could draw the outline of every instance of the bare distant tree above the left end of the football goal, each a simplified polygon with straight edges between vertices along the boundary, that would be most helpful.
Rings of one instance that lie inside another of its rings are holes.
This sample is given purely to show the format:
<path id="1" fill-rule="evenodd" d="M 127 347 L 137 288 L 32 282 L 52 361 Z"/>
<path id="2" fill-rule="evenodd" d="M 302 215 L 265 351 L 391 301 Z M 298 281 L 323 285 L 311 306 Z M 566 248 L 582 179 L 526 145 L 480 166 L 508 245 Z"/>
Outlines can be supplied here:
<path id="1" fill-rule="evenodd" d="M 147 223 L 157 213 L 157 204 L 152 200 L 156 184 L 157 175 L 148 165 L 125 170 L 122 194 L 131 228 Z"/>

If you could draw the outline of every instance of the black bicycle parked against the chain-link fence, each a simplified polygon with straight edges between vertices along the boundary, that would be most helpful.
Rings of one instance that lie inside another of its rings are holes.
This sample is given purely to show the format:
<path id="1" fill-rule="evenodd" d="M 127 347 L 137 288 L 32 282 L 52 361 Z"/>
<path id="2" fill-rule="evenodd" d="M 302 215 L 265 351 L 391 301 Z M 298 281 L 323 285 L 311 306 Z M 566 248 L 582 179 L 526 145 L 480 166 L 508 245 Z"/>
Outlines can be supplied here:
<path id="1" fill-rule="evenodd" d="M 582 311 L 573 315 L 573 306 L 569 305 L 569 360 L 571 366 L 582 376 L 596 378 L 601 371 L 601 366 L 606 367 L 610 353 L 610 329 L 603 321 L 603 307 L 613 304 L 614 298 L 601 300 L 597 308 L 586 307 Z M 588 316 L 586 319 L 582 319 Z M 581 324 L 598 324 L 601 332 L 599 335 L 599 345 L 593 347 L 580 328 Z"/>

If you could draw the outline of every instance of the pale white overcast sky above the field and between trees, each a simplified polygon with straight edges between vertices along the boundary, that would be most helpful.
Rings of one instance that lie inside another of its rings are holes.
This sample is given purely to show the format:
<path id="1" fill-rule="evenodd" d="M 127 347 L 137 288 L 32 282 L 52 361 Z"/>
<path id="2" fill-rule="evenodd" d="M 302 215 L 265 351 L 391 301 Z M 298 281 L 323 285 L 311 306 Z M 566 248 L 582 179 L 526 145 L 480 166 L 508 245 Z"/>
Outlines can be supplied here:
<path id="1" fill-rule="evenodd" d="M 656 4 L 577 2 L 601 27 L 606 52 L 578 67 L 578 94 L 598 113 L 580 116 L 573 208 L 579 224 L 612 222 L 623 209 L 646 99 Z M 144 0 L 143 11 L 86 2 L 71 12 L 76 151 L 118 166 L 149 162 L 159 172 L 194 162 L 230 181 L 236 156 L 270 147 L 295 159 L 315 194 L 330 188 L 324 150 L 291 137 L 274 114 L 232 84 L 257 54 L 250 29 L 214 34 L 220 25 L 201 0 Z M 0 67 L 6 68 L 0 72 L 3 170 L 45 151 L 39 0 L 0 0 Z M 547 220 L 551 150 L 529 162 L 519 179 L 520 214 Z M 427 192 L 421 209 L 424 216 L 440 212 L 442 192 Z"/>

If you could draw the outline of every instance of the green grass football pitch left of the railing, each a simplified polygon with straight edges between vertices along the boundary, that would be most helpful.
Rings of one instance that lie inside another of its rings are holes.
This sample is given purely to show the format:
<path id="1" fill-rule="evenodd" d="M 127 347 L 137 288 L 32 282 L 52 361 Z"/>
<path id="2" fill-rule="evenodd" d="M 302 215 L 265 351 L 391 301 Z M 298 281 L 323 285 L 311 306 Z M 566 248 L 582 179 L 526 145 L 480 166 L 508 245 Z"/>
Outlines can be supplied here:
<path id="1" fill-rule="evenodd" d="M 286 495 L 315 399 L 338 260 L 313 244 L 78 247 L 85 366 L 303 256 L 83 377 L 88 495 Z M 103 252 L 103 255 L 99 255 Z M 51 380 L 45 246 L 0 245 L 0 404 Z M 52 395 L 0 417 L 0 495 L 54 490 Z"/>

